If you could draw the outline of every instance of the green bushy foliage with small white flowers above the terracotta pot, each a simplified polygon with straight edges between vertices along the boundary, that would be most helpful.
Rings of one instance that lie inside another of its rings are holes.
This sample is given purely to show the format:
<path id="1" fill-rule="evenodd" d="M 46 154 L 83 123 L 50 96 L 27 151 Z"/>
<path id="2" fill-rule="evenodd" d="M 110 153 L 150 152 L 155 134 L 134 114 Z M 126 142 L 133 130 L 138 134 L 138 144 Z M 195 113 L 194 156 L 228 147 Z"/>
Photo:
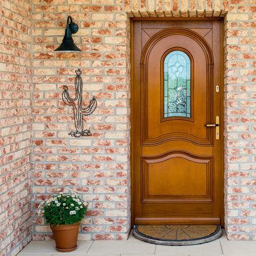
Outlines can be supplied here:
<path id="1" fill-rule="evenodd" d="M 46 218 L 50 225 L 71 225 L 80 222 L 87 212 L 87 201 L 69 191 L 67 194 L 58 192 L 39 205 L 39 215 Z"/>

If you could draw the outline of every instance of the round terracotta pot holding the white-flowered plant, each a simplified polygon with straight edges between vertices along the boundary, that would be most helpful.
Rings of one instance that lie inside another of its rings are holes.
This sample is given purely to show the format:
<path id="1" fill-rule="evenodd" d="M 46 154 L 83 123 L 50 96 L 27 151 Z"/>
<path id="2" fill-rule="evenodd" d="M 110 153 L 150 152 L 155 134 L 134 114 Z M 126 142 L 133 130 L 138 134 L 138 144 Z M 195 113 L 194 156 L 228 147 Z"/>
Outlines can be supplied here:
<path id="1" fill-rule="evenodd" d="M 78 232 L 80 222 L 71 225 L 50 225 L 52 233 L 54 233 L 54 240 L 56 250 L 59 252 L 72 252 L 78 245 Z"/>

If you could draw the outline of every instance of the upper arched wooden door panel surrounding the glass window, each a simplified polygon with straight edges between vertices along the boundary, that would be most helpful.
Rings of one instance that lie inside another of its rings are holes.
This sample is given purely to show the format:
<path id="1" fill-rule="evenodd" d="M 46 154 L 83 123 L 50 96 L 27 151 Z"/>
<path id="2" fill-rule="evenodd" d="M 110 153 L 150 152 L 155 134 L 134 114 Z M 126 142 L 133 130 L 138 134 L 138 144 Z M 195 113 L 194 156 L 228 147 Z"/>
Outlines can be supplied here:
<path id="1" fill-rule="evenodd" d="M 210 75 L 210 69 L 207 70 L 207 66 L 210 63 L 207 63 L 205 55 L 210 55 L 210 53 L 204 52 L 196 42 L 197 38 L 188 37 L 191 36 L 188 34 L 188 30 L 181 28 L 165 30 L 162 34 L 163 38 L 160 36 L 158 34 L 157 42 L 151 42 L 153 46 L 148 47 L 146 56 L 142 56 L 142 61 L 145 60 L 142 72 L 143 75 L 147 75 L 145 87 L 142 87 L 142 100 L 145 106 L 143 113 L 146 113 L 146 116 L 144 114 L 142 116 L 143 144 L 161 143 L 162 140 L 173 140 L 177 137 L 191 140 L 194 143 L 212 143 L 209 141 L 209 134 L 207 136 L 207 132 L 209 133 L 211 130 L 204 127 L 207 114 L 211 114 L 210 107 L 212 106 L 212 102 L 206 104 L 207 86 L 210 86 L 209 83 L 207 84 L 207 78 Z M 191 118 L 164 118 L 163 116 L 163 58 L 159 58 L 159 56 L 164 56 L 166 50 L 170 52 L 177 49 L 189 52 L 191 55 Z M 200 92 L 200 94 L 194 94 L 194 92 Z M 209 88 L 208 92 L 210 93 Z M 156 102 L 156 98 L 158 98 L 158 102 Z M 212 101 L 212 97 L 209 99 Z M 206 108 L 208 108 L 207 111 Z M 170 126 L 172 126 L 171 129 Z"/>

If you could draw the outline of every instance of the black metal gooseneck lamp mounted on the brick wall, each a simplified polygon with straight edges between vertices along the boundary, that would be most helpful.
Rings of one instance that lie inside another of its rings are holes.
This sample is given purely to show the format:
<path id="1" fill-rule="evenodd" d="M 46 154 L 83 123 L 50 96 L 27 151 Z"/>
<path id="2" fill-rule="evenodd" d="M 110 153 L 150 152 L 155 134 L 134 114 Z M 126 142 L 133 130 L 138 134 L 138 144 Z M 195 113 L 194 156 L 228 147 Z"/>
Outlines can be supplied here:
<path id="1" fill-rule="evenodd" d="M 62 40 L 62 44 L 55 49 L 58 52 L 81 52 L 81 50 L 74 44 L 74 40 L 72 38 L 72 34 L 78 32 L 78 25 L 72 22 L 71 16 L 68 16 L 68 20 L 66 22 L 66 30 L 65 35 Z"/>

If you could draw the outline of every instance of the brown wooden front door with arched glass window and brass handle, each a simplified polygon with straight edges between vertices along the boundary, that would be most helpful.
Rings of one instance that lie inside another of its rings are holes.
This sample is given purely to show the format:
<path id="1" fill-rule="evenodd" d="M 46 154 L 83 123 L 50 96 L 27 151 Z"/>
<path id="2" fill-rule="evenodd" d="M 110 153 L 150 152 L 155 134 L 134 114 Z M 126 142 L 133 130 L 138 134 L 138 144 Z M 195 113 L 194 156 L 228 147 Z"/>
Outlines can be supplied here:
<path id="1" fill-rule="evenodd" d="M 220 224 L 221 20 L 134 20 L 135 225 Z"/>

